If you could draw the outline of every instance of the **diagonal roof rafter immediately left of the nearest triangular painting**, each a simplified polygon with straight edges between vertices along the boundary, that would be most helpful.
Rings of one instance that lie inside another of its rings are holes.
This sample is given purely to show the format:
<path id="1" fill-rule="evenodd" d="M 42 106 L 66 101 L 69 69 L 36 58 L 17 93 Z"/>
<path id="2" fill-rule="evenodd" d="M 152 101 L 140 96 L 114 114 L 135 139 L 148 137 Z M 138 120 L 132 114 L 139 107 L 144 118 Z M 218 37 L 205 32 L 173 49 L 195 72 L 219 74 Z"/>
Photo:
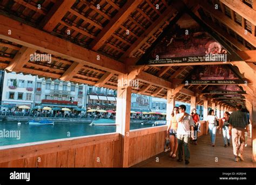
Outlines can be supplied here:
<path id="1" fill-rule="evenodd" d="M 173 9 L 173 7 L 169 6 L 162 13 L 162 15 L 159 16 L 142 35 L 140 35 L 140 37 L 133 43 L 133 45 L 127 49 L 127 51 L 123 54 L 122 59 L 131 57 L 132 54 L 137 51 L 143 45 L 143 43 L 146 42 L 151 37 L 151 35 L 153 35 L 158 30 L 158 28 L 170 18 L 170 15 L 172 15 L 175 11 L 176 10 Z"/>

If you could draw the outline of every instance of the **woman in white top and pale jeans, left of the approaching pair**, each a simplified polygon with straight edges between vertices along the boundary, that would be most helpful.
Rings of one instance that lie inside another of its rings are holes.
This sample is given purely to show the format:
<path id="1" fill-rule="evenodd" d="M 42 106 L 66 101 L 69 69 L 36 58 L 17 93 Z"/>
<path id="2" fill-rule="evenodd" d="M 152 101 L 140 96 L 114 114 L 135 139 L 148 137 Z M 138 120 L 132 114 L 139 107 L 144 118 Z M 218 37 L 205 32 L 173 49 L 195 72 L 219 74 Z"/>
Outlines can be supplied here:
<path id="1" fill-rule="evenodd" d="M 215 116 L 214 114 L 214 110 L 210 110 L 208 112 L 208 116 L 207 116 L 207 123 L 208 123 L 208 129 L 209 129 L 209 132 L 210 132 L 210 137 L 211 137 L 211 143 L 212 143 L 212 146 L 214 147 L 215 146 L 215 138 L 216 138 L 216 130 L 218 129 L 217 126 L 218 126 L 218 118 L 217 116 Z"/>

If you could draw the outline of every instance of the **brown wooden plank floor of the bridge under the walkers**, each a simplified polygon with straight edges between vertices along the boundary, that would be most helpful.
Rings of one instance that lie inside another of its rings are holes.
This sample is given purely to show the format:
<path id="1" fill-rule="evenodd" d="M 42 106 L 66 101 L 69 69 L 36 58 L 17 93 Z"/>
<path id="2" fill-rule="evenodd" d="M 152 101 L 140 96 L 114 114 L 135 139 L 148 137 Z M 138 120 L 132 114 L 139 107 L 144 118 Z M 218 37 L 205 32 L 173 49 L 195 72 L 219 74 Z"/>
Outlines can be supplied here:
<path id="1" fill-rule="evenodd" d="M 132 167 L 256 167 L 252 162 L 250 138 L 248 138 L 247 147 L 244 149 L 244 161 L 233 161 L 232 142 L 231 146 L 225 148 L 223 135 L 219 133 L 217 133 L 215 147 L 211 146 L 210 136 L 204 135 L 198 138 L 198 145 L 190 145 L 190 152 L 189 165 L 185 165 L 184 160 L 178 162 L 177 158 L 169 158 L 169 153 L 163 152 Z M 159 162 L 157 162 L 157 158 Z M 215 161 L 216 159 L 218 161 Z"/>

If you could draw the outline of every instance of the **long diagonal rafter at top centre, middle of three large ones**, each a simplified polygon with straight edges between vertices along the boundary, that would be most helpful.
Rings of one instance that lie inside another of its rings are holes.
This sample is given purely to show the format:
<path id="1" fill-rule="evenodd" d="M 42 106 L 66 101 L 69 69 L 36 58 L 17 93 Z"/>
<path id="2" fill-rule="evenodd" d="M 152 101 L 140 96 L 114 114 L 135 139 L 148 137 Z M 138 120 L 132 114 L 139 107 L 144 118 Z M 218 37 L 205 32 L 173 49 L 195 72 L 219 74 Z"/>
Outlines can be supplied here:
<path id="1" fill-rule="evenodd" d="M 91 42 L 90 47 L 92 50 L 97 51 L 105 41 L 118 29 L 120 25 L 130 16 L 130 14 L 137 8 L 137 6 L 142 2 L 138 1 L 128 1 L 120 9 L 116 16 L 110 19 L 109 24 L 107 24 L 104 29 L 97 35 L 97 38 Z"/>

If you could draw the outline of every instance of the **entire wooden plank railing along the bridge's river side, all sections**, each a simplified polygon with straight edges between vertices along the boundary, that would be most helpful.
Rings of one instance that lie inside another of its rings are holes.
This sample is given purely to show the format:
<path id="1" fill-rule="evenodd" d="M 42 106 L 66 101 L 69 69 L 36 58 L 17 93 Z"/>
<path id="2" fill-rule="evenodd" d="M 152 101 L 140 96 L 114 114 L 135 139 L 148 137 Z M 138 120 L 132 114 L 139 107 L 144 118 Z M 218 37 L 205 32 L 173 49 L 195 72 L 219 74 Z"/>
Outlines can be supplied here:
<path id="1" fill-rule="evenodd" d="M 167 126 L 130 131 L 128 166 L 164 151 Z M 201 121 L 198 137 L 207 133 Z M 120 167 L 119 133 L 0 147 L 0 167 Z"/>

